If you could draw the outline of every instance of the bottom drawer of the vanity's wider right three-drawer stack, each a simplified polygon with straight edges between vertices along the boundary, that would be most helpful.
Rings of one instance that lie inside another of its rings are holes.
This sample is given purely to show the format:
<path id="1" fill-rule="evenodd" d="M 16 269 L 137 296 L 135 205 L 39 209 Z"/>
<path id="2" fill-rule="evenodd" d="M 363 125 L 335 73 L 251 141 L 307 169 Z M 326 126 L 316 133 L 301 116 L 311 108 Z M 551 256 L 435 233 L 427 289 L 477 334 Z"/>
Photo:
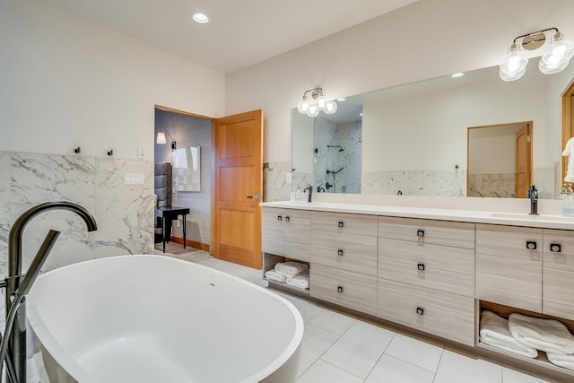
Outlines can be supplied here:
<path id="1" fill-rule="evenodd" d="M 378 279 L 378 317 L 474 346 L 474 299 Z"/>

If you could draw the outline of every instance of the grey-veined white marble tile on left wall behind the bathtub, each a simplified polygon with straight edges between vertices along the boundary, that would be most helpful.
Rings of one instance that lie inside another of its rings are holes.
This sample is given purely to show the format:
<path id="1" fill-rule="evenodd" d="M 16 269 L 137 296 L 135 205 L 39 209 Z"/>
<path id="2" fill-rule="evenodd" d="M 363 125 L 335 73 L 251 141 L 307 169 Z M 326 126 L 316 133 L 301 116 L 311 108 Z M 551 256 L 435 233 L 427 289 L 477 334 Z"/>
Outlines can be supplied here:
<path id="1" fill-rule="evenodd" d="M 124 173 L 143 173 L 144 183 L 124 184 Z M 74 213 L 41 213 L 22 238 L 24 270 L 48 230 L 61 231 L 44 270 L 83 260 L 153 251 L 152 161 L 0 152 L 0 276 L 6 274 L 8 233 L 34 205 L 70 201 L 94 215 L 98 231 L 87 232 Z"/>

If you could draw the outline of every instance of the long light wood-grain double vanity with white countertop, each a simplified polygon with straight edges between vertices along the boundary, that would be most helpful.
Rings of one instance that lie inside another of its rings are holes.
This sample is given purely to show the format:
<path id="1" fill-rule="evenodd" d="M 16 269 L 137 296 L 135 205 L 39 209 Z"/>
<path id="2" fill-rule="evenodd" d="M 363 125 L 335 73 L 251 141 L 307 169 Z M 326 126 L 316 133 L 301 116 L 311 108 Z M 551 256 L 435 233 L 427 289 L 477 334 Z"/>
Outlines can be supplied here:
<path id="1" fill-rule="evenodd" d="M 518 202 L 515 202 L 518 204 Z M 263 203 L 264 274 L 309 263 L 309 290 L 269 281 L 549 379 L 574 371 L 479 342 L 483 309 L 574 331 L 574 218 L 404 205 Z"/>

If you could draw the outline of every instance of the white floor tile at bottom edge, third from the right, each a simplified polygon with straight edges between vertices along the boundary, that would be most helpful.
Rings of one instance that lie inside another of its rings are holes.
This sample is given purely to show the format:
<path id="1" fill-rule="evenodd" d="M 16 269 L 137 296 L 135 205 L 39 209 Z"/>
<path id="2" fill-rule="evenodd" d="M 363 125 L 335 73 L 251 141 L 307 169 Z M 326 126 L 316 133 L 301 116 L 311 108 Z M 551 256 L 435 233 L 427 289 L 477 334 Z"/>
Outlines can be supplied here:
<path id="1" fill-rule="evenodd" d="M 432 383 L 434 373 L 384 354 L 365 383 Z M 464 380 L 459 380 L 464 382 Z"/>

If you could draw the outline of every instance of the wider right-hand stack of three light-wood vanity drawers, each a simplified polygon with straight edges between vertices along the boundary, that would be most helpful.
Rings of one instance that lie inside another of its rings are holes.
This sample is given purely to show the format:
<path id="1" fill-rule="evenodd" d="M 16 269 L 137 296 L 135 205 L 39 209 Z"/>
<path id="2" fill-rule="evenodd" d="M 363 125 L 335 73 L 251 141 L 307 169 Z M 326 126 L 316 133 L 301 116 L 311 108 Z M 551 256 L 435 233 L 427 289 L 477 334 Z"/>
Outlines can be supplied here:
<path id="1" fill-rule="evenodd" d="M 377 315 L 474 346 L 474 223 L 378 217 Z"/>

